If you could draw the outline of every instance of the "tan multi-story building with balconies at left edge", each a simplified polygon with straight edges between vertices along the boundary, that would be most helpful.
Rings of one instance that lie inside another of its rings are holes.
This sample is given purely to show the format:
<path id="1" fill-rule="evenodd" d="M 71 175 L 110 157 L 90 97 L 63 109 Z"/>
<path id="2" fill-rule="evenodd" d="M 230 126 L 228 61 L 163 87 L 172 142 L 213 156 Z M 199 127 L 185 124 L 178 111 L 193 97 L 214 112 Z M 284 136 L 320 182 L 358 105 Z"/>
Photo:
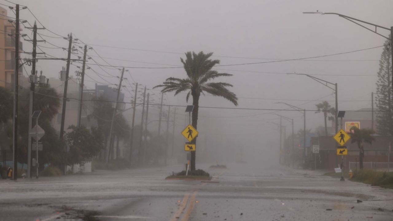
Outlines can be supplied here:
<path id="1" fill-rule="evenodd" d="M 7 17 L 7 9 L 0 7 L 0 87 L 14 90 L 12 85 L 15 81 L 15 22 Z M 9 36 L 11 35 L 11 36 Z M 22 52 L 23 44 L 19 42 L 19 52 Z M 19 67 L 19 75 L 22 75 L 22 66 Z"/>

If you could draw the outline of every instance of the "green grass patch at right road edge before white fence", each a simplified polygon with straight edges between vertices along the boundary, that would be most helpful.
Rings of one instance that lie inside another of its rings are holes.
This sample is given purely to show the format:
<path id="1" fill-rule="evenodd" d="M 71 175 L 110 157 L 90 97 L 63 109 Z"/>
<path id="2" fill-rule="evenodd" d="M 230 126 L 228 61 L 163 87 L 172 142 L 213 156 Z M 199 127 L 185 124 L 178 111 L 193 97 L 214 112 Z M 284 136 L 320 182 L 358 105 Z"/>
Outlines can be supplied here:
<path id="1" fill-rule="evenodd" d="M 371 186 L 393 188 L 393 172 L 357 169 L 353 171 L 351 181 L 363 182 L 371 184 Z"/>

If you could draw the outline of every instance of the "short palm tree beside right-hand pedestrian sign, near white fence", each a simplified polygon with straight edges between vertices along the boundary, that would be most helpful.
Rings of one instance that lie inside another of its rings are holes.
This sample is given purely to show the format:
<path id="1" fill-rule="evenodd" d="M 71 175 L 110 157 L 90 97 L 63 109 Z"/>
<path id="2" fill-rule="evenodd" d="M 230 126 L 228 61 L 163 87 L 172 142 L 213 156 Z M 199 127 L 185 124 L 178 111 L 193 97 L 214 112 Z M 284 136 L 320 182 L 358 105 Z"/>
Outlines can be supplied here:
<path id="1" fill-rule="evenodd" d="M 363 148 L 363 142 L 366 142 L 368 144 L 371 144 L 375 140 L 372 134 L 375 133 L 373 129 L 359 129 L 355 126 L 351 127 L 351 143 L 357 143 L 358 148 L 359 148 L 359 168 L 363 169 L 363 158 L 364 158 L 364 148 Z"/>

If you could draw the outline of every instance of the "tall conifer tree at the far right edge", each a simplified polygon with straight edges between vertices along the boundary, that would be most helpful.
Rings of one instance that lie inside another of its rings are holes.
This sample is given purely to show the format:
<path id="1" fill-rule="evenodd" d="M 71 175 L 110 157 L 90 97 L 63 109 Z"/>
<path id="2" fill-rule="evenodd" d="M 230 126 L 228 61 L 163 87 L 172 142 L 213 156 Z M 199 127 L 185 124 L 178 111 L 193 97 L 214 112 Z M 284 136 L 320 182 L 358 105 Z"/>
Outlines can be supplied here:
<path id="1" fill-rule="evenodd" d="M 379 60 L 378 81 L 376 82 L 376 132 L 381 136 L 393 135 L 392 119 L 392 84 L 391 84 L 391 46 L 389 40 L 385 41 L 385 47 Z"/>

